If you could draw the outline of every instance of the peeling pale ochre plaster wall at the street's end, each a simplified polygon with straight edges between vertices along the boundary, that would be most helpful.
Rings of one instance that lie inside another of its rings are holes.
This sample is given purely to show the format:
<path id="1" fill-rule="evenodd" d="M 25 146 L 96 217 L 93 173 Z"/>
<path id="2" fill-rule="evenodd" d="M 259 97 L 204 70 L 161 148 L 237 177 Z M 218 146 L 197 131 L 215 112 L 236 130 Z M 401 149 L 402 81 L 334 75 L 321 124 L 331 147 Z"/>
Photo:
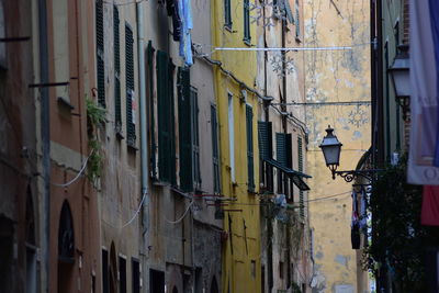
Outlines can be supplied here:
<path id="1" fill-rule="evenodd" d="M 305 46 L 352 46 L 352 50 L 304 53 L 306 102 L 370 101 L 369 1 L 305 0 Z M 368 150 L 370 104 L 307 106 L 309 202 L 314 229 L 313 292 L 367 292 L 357 286 L 359 255 L 351 249 L 351 185 L 333 181 L 318 148 L 330 124 L 344 144 L 340 170 L 351 170 Z M 361 275 L 362 272 L 359 273 Z"/>

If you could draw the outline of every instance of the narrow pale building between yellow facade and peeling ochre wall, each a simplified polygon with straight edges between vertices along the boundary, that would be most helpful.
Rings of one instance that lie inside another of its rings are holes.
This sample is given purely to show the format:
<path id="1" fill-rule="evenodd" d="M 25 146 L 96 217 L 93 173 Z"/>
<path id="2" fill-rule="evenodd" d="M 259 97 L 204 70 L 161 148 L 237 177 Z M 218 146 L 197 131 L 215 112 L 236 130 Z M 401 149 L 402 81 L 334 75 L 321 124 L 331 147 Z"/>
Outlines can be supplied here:
<path id="1" fill-rule="evenodd" d="M 307 209 L 302 1 L 262 2 L 257 87 L 262 292 L 309 290 L 312 230 Z M 285 48 L 285 49 L 279 49 Z"/>

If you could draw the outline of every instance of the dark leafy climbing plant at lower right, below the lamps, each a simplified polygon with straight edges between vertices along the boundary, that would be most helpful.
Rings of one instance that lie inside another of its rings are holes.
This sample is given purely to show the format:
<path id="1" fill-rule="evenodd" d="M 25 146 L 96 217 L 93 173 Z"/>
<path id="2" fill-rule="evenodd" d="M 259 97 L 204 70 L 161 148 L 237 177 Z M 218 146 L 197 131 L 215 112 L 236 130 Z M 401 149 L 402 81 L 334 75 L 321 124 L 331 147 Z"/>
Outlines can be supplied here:
<path id="1" fill-rule="evenodd" d="M 423 292 L 425 248 L 439 245 L 439 234 L 420 224 L 423 190 L 407 183 L 406 170 L 406 159 L 402 159 L 373 184 L 372 243 L 363 249 L 362 261 L 375 278 L 386 272 L 397 292 Z"/>

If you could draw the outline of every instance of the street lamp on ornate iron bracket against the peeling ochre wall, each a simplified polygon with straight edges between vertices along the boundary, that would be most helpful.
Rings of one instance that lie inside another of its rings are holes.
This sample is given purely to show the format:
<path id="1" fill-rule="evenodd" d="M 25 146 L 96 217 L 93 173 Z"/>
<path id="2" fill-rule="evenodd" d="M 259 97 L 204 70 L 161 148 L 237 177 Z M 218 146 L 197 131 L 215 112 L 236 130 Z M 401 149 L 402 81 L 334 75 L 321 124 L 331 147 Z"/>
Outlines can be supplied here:
<path id="1" fill-rule="evenodd" d="M 342 144 L 338 140 L 337 136 L 334 135 L 334 128 L 328 125 L 326 128 L 326 136 L 323 138 L 319 147 L 322 148 L 323 155 L 325 157 L 326 166 L 333 173 L 333 179 L 336 179 L 336 174 L 344 178 L 346 182 L 351 182 L 358 177 L 363 177 L 369 181 L 372 181 L 372 176 L 375 173 L 376 169 L 371 170 L 348 170 L 348 171 L 337 171 L 337 167 L 340 165 L 340 153 Z"/>

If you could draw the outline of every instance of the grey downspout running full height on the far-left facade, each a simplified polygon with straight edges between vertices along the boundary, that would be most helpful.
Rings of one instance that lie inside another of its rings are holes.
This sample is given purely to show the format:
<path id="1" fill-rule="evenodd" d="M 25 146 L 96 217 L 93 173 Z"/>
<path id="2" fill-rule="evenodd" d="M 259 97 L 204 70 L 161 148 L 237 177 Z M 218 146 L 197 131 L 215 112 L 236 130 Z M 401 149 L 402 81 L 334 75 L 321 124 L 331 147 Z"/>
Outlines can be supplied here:
<path id="1" fill-rule="evenodd" d="M 48 48 L 47 48 L 47 11 L 46 1 L 38 0 L 40 31 L 40 82 L 48 82 Z M 46 280 L 43 281 L 44 292 L 49 291 L 49 251 L 50 251 L 50 124 L 48 89 L 40 89 L 41 94 L 41 137 L 43 151 L 43 259 Z M 44 279 L 44 278 L 43 278 Z"/>

